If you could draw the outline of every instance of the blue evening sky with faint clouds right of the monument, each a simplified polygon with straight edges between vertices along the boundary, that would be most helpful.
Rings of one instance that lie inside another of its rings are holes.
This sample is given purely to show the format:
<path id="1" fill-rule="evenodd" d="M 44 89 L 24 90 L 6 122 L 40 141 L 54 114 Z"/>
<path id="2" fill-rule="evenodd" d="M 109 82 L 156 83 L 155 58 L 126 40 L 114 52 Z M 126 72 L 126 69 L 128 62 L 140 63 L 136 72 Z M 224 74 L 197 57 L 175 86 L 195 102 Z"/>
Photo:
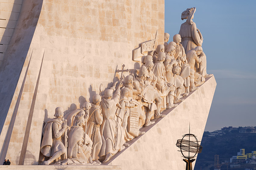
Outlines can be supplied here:
<path id="1" fill-rule="evenodd" d="M 179 33 L 181 13 L 196 7 L 207 73 L 217 82 L 205 131 L 256 126 L 256 1 L 165 0 L 165 32 Z"/>

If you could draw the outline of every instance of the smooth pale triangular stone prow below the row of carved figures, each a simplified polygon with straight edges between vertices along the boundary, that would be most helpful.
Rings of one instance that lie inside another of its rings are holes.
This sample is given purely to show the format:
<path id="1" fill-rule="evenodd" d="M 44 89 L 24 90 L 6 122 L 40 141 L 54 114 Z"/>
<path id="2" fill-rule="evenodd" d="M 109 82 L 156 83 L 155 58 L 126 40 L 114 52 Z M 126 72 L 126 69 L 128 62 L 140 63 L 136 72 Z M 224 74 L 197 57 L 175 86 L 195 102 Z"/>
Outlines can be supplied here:
<path id="1" fill-rule="evenodd" d="M 186 165 L 175 144 L 180 136 L 188 132 L 189 123 L 190 132 L 197 134 L 199 141 L 202 139 L 216 88 L 214 76 L 205 80 L 177 107 L 164 110 L 162 114 L 166 117 L 141 128 L 140 131 L 146 133 L 127 142 L 130 146 L 114 155 L 105 165 L 121 165 L 123 170 L 185 169 Z"/>

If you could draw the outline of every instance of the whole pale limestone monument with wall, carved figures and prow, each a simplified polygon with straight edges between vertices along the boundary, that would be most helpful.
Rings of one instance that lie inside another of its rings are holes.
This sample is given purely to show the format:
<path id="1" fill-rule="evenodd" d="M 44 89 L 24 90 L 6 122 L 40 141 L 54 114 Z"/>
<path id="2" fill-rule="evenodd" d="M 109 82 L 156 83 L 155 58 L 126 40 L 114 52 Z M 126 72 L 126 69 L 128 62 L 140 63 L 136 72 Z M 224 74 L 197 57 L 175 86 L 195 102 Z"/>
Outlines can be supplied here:
<path id="1" fill-rule="evenodd" d="M 0 160 L 11 169 L 184 169 L 182 124 L 202 138 L 216 87 L 196 8 L 168 44 L 164 1 L 0 3 Z"/>

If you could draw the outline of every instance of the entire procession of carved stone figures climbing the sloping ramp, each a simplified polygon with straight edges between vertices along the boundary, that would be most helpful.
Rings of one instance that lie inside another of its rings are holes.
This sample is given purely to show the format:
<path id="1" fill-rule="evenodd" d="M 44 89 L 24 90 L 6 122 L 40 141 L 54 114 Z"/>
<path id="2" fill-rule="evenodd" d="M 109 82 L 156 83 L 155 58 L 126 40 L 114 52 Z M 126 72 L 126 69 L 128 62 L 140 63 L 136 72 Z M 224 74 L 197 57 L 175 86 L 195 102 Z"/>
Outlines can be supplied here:
<path id="1" fill-rule="evenodd" d="M 137 73 L 120 78 L 104 95 L 100 90 L 92 103 L 85 102 L 65 116 L 63 108 L 57 107 L 55 118 L 44 124 L 42 164 L 109 161 L 129 146 L 126 142 L 145 133 L 141 127 L 165 117 L 163 110 L 176 107 L 211 77 L 206 73 L 202 35 L 191 20 L 194 12 L 195 8 L 190 8 L 182 13 L 187 21 L 179 34 L 168 44 L 170 36 L 165 33 L 165 43 L 143 57 Z"/>

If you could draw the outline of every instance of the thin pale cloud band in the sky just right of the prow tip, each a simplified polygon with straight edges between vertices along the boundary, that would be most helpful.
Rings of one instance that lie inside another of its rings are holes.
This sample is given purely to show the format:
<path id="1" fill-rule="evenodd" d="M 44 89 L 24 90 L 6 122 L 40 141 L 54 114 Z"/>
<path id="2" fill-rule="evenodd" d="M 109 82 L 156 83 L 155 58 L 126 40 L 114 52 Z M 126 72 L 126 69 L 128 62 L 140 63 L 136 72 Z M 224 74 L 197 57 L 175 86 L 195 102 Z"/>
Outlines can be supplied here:
<path id="1" fill-rule="evenodd" d="M 207 70 L 207 73 L 218 79 L 256 79 L 255 74 L 236 70 Z"/>

